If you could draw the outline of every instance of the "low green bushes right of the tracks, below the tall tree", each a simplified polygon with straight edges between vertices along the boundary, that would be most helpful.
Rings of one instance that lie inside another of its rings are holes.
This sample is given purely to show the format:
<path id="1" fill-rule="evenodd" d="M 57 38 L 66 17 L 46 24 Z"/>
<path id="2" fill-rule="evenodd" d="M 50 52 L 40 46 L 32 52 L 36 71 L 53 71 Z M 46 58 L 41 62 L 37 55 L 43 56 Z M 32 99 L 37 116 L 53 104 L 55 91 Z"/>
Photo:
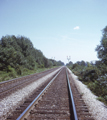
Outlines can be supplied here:
<path id="1" fill-rule="evenodd" d="M 76 62 L 69 68 L 78 76 L 80 81 L 86 84 L 98 96 L 99 100 L 107 104 L 107 72 L 105 74 L 103 73 L 106 66 L 96 63 L 91 64 L 86 62 L 85 65 L 82 65 Z M 100 69 L 101 66 L 102 69 Z"/>

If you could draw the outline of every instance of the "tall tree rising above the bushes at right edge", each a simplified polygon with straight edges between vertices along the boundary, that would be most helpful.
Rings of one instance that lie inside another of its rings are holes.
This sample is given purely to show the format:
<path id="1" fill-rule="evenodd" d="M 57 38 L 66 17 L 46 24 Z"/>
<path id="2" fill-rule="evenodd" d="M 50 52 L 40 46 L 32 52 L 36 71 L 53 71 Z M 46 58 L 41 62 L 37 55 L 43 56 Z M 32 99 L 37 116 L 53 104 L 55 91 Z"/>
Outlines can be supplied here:
<path id="1" fill-rule="evenodd" d="M 98 58 L 107 65 L 107 26 L 102 30 L 100 45 L 96 47 Z"/>

